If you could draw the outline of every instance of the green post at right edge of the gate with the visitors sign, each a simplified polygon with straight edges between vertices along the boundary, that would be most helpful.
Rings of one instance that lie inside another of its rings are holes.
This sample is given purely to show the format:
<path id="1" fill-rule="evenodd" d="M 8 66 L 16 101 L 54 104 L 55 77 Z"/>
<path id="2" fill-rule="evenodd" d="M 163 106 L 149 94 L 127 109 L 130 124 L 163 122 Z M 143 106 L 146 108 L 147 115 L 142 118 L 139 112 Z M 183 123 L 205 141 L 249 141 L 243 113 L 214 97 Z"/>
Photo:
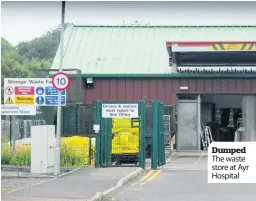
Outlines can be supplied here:
<path id="1" fill-rule="evenodd" d="M 145 169 L 145 144 L 146 144 L 146 135 L 145 135 L 145 101 L 139 102 L 139 165 L 141 168 Z"/>

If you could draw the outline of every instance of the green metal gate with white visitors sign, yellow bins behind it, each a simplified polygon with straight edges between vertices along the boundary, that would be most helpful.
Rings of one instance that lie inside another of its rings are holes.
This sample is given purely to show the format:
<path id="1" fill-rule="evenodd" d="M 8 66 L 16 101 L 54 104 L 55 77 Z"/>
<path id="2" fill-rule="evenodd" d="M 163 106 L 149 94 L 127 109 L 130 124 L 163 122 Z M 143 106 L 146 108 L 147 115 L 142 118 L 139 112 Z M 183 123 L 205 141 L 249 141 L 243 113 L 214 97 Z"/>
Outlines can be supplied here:
<path id="1" fill-rule="evenodd" d="M 96 167 L 145 168 L 145 102 L 96 103 Z"/>

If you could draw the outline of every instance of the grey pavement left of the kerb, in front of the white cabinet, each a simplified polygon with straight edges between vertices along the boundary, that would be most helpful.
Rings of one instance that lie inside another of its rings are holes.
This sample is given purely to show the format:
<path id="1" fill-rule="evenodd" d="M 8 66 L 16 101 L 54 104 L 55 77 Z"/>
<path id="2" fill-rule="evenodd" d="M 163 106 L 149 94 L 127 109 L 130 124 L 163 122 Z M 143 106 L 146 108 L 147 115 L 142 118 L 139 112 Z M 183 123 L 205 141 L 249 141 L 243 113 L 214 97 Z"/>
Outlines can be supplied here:
<path id="1" fill-rule="evenodd" d="M 2 200 L 4 201 L 71 201 L 86 200 L 94 196 L 96 192 L 105 191 L 115 186 L 119 179 L 134 171 L 135 167 L 116 167 L 116 168 L 85 168 L 70 176 L 59 179 L 50 179 L 45 181 L 31 182 L 32 180 L 13 181 L 21 183 L 20 186 L 28 186 L 16 192 L 2 192 Z M 3 181 L 3 180 L 2 180 Z M 27 183 L 26 183 L 27 182 Z M 10 183 L 10 181 L 6 181 Z M 2 184 L 3 185 L 3 184 Z M 8 184 L 9 185 L 9 184 Z M 5 186 L 8 186 L 5 184 Z M 15 186 L 15 185 L 13 185 Z M 12 188 L 12 190 L 15 190 Z M 9 191 L 10 192 L 10 191 Z M 7 194 L 8 193 L 8 194 Z M 49 199 L 48 199 L 49 198 Z M 51 199 L 50 199 L 51 198 Z"/>

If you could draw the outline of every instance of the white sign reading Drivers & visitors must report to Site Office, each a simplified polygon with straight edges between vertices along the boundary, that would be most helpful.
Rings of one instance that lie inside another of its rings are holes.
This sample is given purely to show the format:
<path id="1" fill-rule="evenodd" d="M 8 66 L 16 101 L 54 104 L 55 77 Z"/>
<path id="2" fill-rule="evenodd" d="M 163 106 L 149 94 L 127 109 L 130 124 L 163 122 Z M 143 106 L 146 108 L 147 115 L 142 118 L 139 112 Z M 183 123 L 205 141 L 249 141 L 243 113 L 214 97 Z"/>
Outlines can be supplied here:
<path id="1" fill-rule="evenodd" d="M 139 118 L 139 104 L 102 104 L 102 118 Z"/>

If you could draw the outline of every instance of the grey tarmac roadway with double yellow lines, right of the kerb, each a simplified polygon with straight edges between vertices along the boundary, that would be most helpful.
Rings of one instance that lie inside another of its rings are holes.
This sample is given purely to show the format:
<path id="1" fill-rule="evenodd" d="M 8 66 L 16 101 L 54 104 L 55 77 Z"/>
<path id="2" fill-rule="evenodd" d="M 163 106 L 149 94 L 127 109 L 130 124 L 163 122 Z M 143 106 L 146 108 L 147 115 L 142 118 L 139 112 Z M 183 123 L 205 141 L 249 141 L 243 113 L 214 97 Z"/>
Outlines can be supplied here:
<path id="1" fill-rule="evenodd" d="M 105 201 L 255 201 L 256 184 L 208 184 L 207 156 L 179 154 Z"/>

